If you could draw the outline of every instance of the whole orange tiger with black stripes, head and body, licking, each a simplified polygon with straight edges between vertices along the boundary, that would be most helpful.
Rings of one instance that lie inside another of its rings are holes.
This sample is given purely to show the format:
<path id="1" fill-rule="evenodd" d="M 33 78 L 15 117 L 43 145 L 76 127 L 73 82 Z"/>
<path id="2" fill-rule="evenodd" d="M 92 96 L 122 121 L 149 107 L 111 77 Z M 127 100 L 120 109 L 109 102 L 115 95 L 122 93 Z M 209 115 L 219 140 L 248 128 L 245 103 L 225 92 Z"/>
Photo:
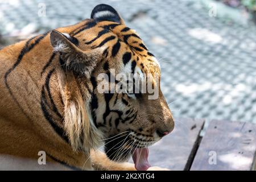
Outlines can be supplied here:
<path id="1" fill-rule="evenodd" d="M 37 163 L 44 151 L 47 164 L 70 169 L 162 169 L 147 160 L 148 146 L 174 129 L 160 65 L 113 7 L 97 5 L 90 19 L 7 46 L 0 62 L 0 156 Z M 99 76 L 113 71 L 154 75 L 140 79 L 158 97 L 99 92 Z"/>

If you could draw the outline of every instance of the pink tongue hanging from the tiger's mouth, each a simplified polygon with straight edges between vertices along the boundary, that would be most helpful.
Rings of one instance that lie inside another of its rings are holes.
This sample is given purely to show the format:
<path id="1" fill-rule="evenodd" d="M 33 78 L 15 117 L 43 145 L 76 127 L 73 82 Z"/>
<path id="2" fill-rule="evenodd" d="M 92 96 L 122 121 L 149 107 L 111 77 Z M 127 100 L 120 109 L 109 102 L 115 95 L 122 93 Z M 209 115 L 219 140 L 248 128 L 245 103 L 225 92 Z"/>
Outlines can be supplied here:
<path id="1" fill-rule="evenodd" d="M 150 164 L 148 163 L 148 148 L 136 148 L 133 153 L 133 162 L 138 171 L 146 171 Z"/>

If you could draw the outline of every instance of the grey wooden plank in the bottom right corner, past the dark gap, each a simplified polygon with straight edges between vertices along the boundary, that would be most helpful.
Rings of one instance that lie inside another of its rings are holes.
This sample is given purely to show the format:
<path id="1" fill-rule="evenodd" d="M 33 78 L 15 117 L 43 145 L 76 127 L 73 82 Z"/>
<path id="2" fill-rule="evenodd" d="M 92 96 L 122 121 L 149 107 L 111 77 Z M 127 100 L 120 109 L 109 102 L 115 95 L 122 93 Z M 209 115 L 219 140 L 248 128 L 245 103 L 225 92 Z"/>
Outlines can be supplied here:
<path id="1" fill-rule="evenodd" d="M 255 151 L 256 125 L 212 121 L 191 170 L 251 170 L 255 167 Z"/>

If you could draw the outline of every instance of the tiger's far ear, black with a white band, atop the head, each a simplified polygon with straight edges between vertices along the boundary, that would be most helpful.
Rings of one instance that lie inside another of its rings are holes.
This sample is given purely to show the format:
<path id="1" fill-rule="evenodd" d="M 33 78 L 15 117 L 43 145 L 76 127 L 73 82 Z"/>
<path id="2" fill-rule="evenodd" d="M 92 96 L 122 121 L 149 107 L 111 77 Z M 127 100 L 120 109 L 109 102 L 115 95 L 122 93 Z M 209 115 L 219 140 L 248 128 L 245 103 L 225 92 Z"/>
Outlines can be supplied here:
<path id="1" fill-rule="evenodd" d="M 112 6 L 105 4 L 100 4 L 94 7 L 92 14 L 90 14 L 90 18 L 96 20 L 96 22 L 110 21 L 119 24 L 125 24 L 117 11 Z"/>

